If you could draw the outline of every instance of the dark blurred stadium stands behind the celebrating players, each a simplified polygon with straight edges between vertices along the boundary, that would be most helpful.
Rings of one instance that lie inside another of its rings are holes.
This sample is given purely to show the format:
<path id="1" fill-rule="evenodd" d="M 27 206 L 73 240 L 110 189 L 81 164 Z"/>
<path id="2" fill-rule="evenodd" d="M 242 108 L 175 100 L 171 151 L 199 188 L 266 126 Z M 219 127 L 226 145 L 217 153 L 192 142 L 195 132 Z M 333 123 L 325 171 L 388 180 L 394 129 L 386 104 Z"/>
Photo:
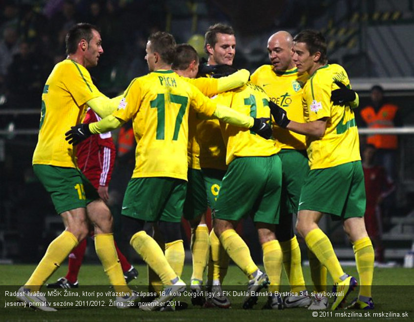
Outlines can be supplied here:
<path id="1" fill-rule="evenodd" d="M 78 22 L 101 29 L 104 54 L 90 72 L 109 97 L 147 73 L 146 39 L 157 30 L 169 31 L 177 43 L 189 42 L 202 56 L 207 27 L 230 24 L 237 39 L 234 65 L 251 72 L 268 64 L 272 33 L 295 35 L 305 28 L 323 32 L 329 63 L 345 68 L 360 96 L 355 114 L 363 157 L 365 143 L 373 144 L 372 164 L 386 171 L 387 182 L 377 189 L 385 195 L 375 201 L 382 213 L 381 261 L 403 263 L 414 240 L 414 0 L 0 0 L 0 263 L 38 262 L 63 230 L 31 170 L 31 157 L 44 83 L 54 64 L 66 58 L 64 38 Z M 384 104 L 396 106 L 398 113 L 386 129 L 372 128 L 361 111 Z M 388 138 L 391 146 L 381 146 L 378 137 L 368 139 L 385 131 L 396 136 Z M 133 162 L 132 155 L 122 162 Z M 117 207 L 128 175 L 114 174 L 110 185 L 118 235 Z M 324 226 L 338 256 L 353 258 L 341 225 L 328 220 Z M 251 224 L 242 223 L 239 229 L 260 261 Z M 188 226 L 183 232 L 188 239 Z M 95 261 L 90 249 L 89 258 Z"/>

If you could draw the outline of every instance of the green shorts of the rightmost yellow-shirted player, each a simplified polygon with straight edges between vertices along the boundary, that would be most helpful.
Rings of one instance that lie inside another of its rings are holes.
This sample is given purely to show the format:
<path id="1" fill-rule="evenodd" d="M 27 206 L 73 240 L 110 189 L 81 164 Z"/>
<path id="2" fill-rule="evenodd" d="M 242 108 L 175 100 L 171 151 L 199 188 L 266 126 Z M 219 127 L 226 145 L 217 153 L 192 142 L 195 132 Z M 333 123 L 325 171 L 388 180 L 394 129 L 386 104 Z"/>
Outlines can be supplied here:
<path id="1" fill-rule="evenodd" d="M 354 161 L 310 170 L 300 194 L 299 210 L 319 211 L 342 220 L 364 217 L 365 200 L 362 164 Z"/>

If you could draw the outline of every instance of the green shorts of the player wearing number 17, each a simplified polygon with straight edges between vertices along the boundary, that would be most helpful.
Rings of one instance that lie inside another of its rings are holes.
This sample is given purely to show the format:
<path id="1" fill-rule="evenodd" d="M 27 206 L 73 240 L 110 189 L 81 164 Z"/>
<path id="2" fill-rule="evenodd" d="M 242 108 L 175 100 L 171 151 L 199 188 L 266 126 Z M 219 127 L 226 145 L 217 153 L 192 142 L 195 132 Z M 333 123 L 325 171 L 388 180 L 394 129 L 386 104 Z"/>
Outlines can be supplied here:
<path id="1" fill-rule="evenodd" d="M 169 177 L 131 178 L 122 203 L 122 215 L 146 222 L 179 223 L 187 182 Z"/>

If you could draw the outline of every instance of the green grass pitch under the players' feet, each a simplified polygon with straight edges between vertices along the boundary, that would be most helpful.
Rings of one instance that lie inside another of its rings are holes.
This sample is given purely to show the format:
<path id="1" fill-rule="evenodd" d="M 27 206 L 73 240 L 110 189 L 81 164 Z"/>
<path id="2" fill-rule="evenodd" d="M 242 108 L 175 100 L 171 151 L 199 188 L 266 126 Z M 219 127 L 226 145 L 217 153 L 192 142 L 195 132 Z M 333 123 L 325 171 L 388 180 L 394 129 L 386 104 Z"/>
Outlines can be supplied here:
<path id="1" fill-rule="evenodd" d="M 241 308 L 242 297 L 230 297 L 232 301 L 231 309 L 205 309 L 194 307 L 191 305 L 190 297 L 179 297 L 177 300 L 187 302 L 188 309 L 176 312 L 142 312 L 138 309 L 116 309 L 115 307 L 62 307 L 58 312 L 42 312 L 33 311 L 21 307 L 5 307 L 6 302 L 15 302 L 14 297 L 5 296 L 6 291 L 17 291 L 17 289 L 27 280 L 28 276 L 33 271 L 33 265 L 0 265 L 0 321 L 22 321 L 22 322 L 81 322 L 81 321 L 97 321 L 97 322 L 127 322 L 127 321 L 148 321 L 148 322 L 162 322 L 162 321 L 199 321 L 199 322 L 216 322 L 216 321 L 257 321 L 257 322 L 274 322 L 274 321 L 309 321 L 312 319 L 323 319 L 323 321 L 414 321 L 414 274 L 412 269 L 404 268 L 375 268 L 374 272 L 374 286 L 373 298 L 375 302 L 375 310 L 372 311 L 321 311 L 317 313 L 317 317 L 313 317 L 313 312 L 307 309 L 285 309 L 283 311 L 261 310 L 266 303 L 266 297 L 259 297 L 257 305 L 252 310 L 243 310 Z M 132 288 L 143 289 L 142 285 L 146 285 L 146 267 L 137 267 L 140 275 L 138 279 L 130 283 Z M 62 266 L 49 279 L 49 282 L 54 282 L 60 276 L 66 273 L 67 267 Z M 305 281 L 307 284 L 311 283 L 309 267 L 303 268 Z M 358 276 L 353 267 L 346 267 L 345 271 Z M 191 276 L 191 266 L 186 265 L 183 272 L 183 279 L 189 282 Z M 244 274 L 236 267 L 230 266 L 227 276 L 224 280 L 224 285 L 232 285 L 230 289 L 237 291 L 244 291 L 246 289 L 247 279 Z M 328 280 L 328 283 L 332 283 Z M 79 273 L 80 287 L 76 290 L 82 293 L 83 290 L 107 291 L 110 290 L 107 286 L 108 281 L 101 266 L 84 265 Z M 289 291 L 286 286 L 287 279 L 283 273 L 282 278 L 282 292 Z M 94 287 L 87 286 L 94 285 Z M 308 287 L 312 290 L 312 287 Z M 328 286 L 328 291 L 331 287 Z M 47 292 L 48 289 L 42 288 L 42 292 Z M 348 297 L 348 301 L 357 296 L 358 289 Z M 79 299 L 88 299 L 88 297 L 57 297 L 58 300 L 70 300 L 74 302 Z M 49 301 L 54 300 L 48 297 Z M 97 300 L 96 297 L 89 297 L 89 299 Z M 332 299 L 331 299 L 332 301 Z M 352 313 L 355 312 L 355 313 Z M 343 317 L 339 314 L 349 313 L 350 316 Z M 363 317 L 358 315 L 362 313 Z M 365 314 L 368 314 L 366 316 Z M 374 313 L 378 315 L 374 317 Z M 387 316 L 388 314 L 388 316 Z M 399 317 L 397 316 L 399 315 Z M 383 315 L 383 316 L 381 316 Z M 403 317 L 408 315 L 408 317 Z M 339 319 L 339 320 L 338 320 Z"/>

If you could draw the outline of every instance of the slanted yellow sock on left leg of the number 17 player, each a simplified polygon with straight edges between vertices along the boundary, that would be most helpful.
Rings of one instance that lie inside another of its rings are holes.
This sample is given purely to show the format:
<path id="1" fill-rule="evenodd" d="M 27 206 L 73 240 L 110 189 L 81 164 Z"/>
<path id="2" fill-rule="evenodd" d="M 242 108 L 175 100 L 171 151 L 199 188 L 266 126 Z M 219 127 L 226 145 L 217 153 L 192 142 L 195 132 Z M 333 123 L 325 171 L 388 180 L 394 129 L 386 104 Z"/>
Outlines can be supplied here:
<path id="1" fill-rule="evenodd" d="M 171 285 L 171 280 L 175 279 L 177 274 L 171 268 L 164 252 L 152 237 L 148 236 L 145 231 L 139 231 L 132 236 L 129 244 L 141 255 L 146 264 L 160 276 L 164 285 Z"/>

